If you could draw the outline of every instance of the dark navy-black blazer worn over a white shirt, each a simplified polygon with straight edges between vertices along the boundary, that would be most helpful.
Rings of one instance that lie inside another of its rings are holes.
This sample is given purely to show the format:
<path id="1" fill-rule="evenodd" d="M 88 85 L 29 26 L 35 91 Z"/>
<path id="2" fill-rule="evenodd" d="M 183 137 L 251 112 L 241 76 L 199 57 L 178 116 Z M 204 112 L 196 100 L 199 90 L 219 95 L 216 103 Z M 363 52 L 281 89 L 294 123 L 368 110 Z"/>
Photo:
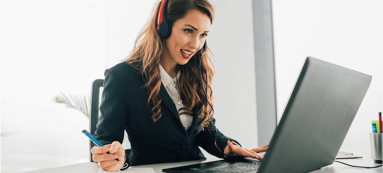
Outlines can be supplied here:
<path id="1" fill-rule="evenodd" d="M 162 116 L 153 122 L 153 104 L 148 105 L 144 84 L 142 75 L 125 62 L 105 70 L 101 116 L 94 133 L 97 140 L 102 144 L 122 143 L 126 130 L 131 143 L 130 153 L 126 152 L 129 165 L 206 159 L 198 146 L 224 158 L 214 145 L 215 128 L 210 125 L 210 131 L 202 131 L 195 108 L 192 127 L 185 130 L 162 83 L 159 91 Z M 227 146 L 227 140 L 233 139 L 218 131 L 217 145 L 221 151 Z"/>

